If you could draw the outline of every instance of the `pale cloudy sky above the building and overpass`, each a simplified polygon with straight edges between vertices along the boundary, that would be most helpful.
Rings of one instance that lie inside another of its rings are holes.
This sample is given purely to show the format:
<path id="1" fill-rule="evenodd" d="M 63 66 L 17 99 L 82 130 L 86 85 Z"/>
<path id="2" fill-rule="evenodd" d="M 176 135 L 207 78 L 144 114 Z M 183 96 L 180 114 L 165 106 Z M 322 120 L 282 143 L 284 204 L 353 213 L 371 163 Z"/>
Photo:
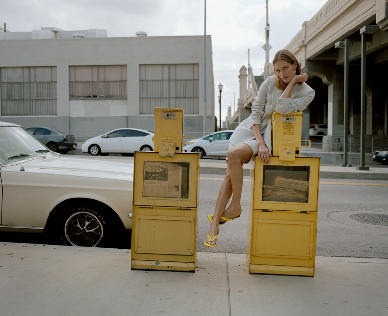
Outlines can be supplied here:
<path id="1" fill-rule="evenodd" d="M 0 27 L 32 32 L 42 27 L 64 30 L 106 29 L 108 37 L 211 35 L 215 116 L 237 109 L 242 65 L 261 75 L 265 64 L 265 0 L 0 0 Z M 268 0 L 269 62 L 291 42 L 327 0 Z"/>

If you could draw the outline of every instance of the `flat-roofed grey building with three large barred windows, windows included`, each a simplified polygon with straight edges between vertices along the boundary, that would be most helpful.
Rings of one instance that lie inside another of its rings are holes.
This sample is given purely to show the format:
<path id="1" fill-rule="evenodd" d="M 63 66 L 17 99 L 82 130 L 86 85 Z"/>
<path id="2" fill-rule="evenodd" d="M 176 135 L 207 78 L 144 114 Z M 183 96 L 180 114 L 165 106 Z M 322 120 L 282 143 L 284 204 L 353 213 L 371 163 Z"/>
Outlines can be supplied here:
<path id="1" fill-rule="evenodd" d="M 184 109 L 187 135 L 213 132 L 211 36 L 205 54 L 204 36 L 136 35 L 57 28 L 0 33 L 0 120 L 83 140 L 119 127 L 153 131 L 154 108 L 171 107 Z"/>

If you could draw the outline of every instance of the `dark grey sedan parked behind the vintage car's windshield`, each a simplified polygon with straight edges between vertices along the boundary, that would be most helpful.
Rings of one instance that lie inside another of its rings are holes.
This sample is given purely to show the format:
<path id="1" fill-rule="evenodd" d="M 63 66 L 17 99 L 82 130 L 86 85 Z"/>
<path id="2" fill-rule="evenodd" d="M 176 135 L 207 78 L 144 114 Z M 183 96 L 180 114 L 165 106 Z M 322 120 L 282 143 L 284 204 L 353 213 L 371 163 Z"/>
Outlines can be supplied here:
<path id="1" fill-rule="evenodd" d="M 28 127 L 25 130 L 51 151 L 66 154 L 69 150 L 77 149 L 74 135 L 66 135 L 49 127 Z"/>

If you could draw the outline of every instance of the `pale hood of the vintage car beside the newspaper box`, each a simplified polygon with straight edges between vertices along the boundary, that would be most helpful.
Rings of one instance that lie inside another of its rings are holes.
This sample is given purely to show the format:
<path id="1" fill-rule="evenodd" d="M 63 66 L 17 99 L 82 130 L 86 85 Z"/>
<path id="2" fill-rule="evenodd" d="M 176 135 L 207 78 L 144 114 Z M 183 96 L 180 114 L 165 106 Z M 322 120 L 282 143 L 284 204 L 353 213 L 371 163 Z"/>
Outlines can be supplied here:
<path id="1" fill-rule="evenodd" d="M 36 171 L 39 169 L 40 172 L 48 169 L 51 173 L 56 171 L 58 174 L 64 172 L 69 175 L 80 176 L 87 173 L 92 177 L 125 178 L 133 181 L 133 163 L 52 156 L 25 160 L 17 164 L 17 166 L 23 166 L 25 169 L 28 168 L 30 172 L 33 172 L 33 169 Z"/>

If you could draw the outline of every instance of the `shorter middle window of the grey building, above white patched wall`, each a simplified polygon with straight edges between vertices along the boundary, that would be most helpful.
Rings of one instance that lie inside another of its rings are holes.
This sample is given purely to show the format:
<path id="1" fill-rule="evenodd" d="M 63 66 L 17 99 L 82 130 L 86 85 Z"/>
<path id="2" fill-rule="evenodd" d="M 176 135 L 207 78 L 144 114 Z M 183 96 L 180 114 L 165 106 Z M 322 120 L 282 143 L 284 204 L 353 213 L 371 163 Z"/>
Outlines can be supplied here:
<path id="1" fill-rule="evenodd" d="M 70 66 L 70 99 L 126 99 L 127 66 Z"/>

